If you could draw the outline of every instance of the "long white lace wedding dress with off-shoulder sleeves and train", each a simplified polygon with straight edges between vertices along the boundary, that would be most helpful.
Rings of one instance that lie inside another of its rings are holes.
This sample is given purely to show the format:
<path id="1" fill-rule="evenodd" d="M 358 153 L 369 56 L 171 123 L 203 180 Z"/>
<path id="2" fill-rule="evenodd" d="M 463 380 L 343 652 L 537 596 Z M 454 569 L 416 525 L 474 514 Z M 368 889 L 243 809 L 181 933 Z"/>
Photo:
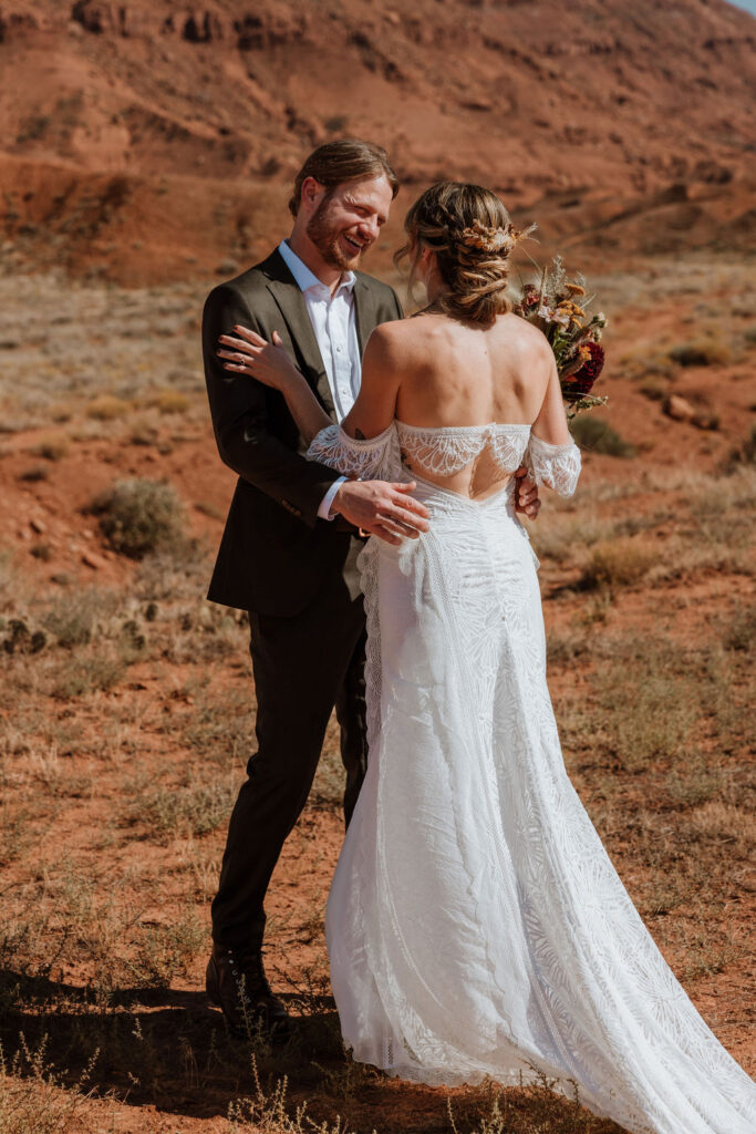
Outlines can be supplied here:
<path id="1" fill-rule="evenodd" d="M 394 422 L 371 441 L 332 425 L 308 456 L 415 479 L 431 513 L 419 539 L 372 538 L 360 557 L 369 758 L 326 911 L 354 1057 L 435 1084 L 541 1070 L 634 1134 L 753 1134 L 756 1086 L 664 962 L 567 777 L 513 481 L 474 500 L 423 477 L 487 462 L 493 483 L 525 462 L 570 496 L 579 450 L 528 425 Z"/>

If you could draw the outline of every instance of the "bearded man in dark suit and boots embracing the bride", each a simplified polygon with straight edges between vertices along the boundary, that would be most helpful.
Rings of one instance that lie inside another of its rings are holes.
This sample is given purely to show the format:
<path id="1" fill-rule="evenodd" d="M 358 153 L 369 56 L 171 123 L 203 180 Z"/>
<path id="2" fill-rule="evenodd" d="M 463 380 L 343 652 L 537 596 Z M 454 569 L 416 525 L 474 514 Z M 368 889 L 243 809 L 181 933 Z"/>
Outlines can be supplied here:
<path id="1" fill-rule="evenodd" d="M 288 240 L 207 297 L 203 355 L 215 439 L 239 475 L 209 598 L 248 611 L 257 751 L 231 814 L 212 906 L 210 999 L 236 1033 L 286 1038 L 288 1015 L 262 960 L 263 902 L 281 847 L 309 794 L 335 706 L 349 822 L 365 775 L 365 615 L 356 558 L 364 533 L 427 528 L 405 484 L 350 481 L 304 457 L 282 396 L 226 371 L 219 336 L 236 324 L 278 331 L 321 405 L 342 420 L 359 390 L 373 329 L 402 318 L 396 293 L 357 271 L 399 185 L 385 152 L 357 139 L 307 158 L 289 209 Z M 519 510 L 537 514 L 535 485 Z"/>

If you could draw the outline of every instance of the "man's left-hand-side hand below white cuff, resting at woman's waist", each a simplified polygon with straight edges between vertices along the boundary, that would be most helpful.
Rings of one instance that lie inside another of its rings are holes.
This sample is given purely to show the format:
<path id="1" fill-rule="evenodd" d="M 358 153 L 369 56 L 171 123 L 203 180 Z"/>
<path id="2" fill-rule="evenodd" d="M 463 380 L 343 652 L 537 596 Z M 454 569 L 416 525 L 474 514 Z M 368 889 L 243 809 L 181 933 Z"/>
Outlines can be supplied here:
<path id="1" fill-rule="evenodd" d="M 333 498 L 331 513 L 387 543 L 401 543 L 402 536 L 416 540 L 421 532 L 427 532 L 430 513 L 409 496 L 415 486 L 415 481 L 345 481 Z"/>

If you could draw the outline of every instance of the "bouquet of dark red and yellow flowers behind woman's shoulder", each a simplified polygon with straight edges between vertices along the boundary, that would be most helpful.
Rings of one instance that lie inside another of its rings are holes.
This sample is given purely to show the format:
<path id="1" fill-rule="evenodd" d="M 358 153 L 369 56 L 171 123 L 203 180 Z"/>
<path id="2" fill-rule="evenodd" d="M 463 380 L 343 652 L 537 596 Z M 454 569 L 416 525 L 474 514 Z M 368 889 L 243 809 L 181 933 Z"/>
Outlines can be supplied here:
<path id="1" fill-rule="evenodd" d="M 595 295 L 586 295 L 586 281 L 580 272 L 568 279 L 561 256 L 555 257 L 552 268 L 543 269 L 540 284 L 520 280 L 520 293 L 516 297 L 515 312 L 535 323 L 551 344 L 562 397 L 568 404 L 568 418 L 609 400 L 591 392 L 604 369 L 601 336 L 608 323 L 602 311 L 597 315 L 586 314 L 586 307 L 594 299 Z"/>

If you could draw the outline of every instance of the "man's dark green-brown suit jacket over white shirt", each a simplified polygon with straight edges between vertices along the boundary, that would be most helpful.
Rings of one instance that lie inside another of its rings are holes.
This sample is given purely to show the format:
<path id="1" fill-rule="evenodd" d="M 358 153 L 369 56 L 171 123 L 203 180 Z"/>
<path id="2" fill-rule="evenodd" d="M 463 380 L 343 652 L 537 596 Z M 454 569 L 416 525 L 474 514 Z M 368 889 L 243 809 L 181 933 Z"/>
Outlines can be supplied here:
<path id="1" fill-rule="evenodd" d="M 360 353 L 379 323 L 401 319 L 387 284 L 357 272 L 355 311 Z M 262 615 L 295 615 L 328 572 L 341 572 L 354 536 L 317 509 L 339 475 L 308 462 L 304 439 L 278 390 L 223 370 L 218 336 L 241 323 L 267 340 L 274 330 L 334 420 L 328 375 L 305 301 L 278 251 L 220 284 L 205 303 L 202 347 L 207 396 L 221 459 L 239 475 L 209 599 Z"/>

